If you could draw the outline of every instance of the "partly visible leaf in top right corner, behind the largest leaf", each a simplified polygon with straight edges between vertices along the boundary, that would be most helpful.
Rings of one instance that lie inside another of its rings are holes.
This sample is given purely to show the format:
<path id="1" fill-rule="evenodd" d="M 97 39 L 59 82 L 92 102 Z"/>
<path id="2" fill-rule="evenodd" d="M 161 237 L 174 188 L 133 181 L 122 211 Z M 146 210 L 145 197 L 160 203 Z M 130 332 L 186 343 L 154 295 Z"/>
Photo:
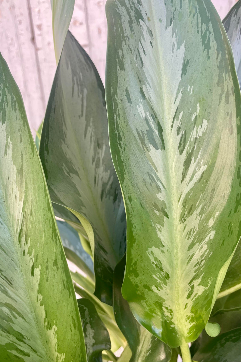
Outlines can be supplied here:
<path id="1" fill-rule="evenodd" d="M 238 0 L 225 16 L 223 26 L 233 50 L 235 68 L 241 88 L 241 0 Z"/>

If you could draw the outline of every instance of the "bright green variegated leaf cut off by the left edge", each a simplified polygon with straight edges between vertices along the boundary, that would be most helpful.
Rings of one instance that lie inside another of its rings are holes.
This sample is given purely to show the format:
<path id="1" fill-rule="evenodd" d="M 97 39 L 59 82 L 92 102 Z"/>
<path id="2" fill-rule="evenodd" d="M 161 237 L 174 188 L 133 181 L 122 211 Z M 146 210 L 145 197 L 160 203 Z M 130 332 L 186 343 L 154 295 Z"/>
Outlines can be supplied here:
<path id="1" fill-rule="evenodd" d="M 0 358 L 86 361 L 46 180 L 20 91 L 0 54 Z"/>

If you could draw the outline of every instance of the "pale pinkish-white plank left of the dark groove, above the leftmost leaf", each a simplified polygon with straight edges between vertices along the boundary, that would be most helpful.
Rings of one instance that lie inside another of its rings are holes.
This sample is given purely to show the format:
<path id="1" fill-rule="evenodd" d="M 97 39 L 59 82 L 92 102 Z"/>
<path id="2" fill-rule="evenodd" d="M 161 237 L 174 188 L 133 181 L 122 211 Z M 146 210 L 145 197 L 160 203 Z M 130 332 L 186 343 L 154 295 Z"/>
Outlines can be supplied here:
<path id="1" fill-rule="evenodd" d="M 44 98 L 27 1 L 1 2 L 0 38 L 1 53 L 20 88 L 30 128 L 34 133 L 38 127 L 38 118 L 44 114 Z"/>

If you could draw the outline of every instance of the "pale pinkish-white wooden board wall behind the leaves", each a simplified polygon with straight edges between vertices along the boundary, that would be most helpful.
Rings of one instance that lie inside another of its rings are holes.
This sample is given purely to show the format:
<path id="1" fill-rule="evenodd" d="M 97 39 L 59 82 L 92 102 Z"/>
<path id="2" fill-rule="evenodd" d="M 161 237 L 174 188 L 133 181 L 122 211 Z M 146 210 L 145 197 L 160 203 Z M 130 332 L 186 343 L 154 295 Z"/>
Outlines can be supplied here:
<path id="1" fill-rule="evenodd" d="M 236 0 L 212 2 L 223 19 Z M 105 4 L 106 0 L 76 0 L 69 26 L 103 81 L 107 41 Z M 20 88 L 35 136 L 56 70 L 50 0 L 0 0 L 0 51 Z"/>

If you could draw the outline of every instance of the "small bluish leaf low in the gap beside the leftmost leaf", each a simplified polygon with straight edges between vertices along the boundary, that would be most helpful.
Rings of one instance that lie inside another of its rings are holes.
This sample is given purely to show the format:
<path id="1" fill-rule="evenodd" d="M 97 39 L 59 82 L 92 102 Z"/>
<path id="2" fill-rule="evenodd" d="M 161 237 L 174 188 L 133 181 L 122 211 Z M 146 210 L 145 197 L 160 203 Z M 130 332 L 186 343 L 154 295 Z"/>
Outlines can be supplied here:
<path id="1" fill-rule="evenodd" d="M 76 230 L 68 223 L 57 220 L 66 258 L 94 280 L 94 265 L 89 254 L 84 251 Z"/>

